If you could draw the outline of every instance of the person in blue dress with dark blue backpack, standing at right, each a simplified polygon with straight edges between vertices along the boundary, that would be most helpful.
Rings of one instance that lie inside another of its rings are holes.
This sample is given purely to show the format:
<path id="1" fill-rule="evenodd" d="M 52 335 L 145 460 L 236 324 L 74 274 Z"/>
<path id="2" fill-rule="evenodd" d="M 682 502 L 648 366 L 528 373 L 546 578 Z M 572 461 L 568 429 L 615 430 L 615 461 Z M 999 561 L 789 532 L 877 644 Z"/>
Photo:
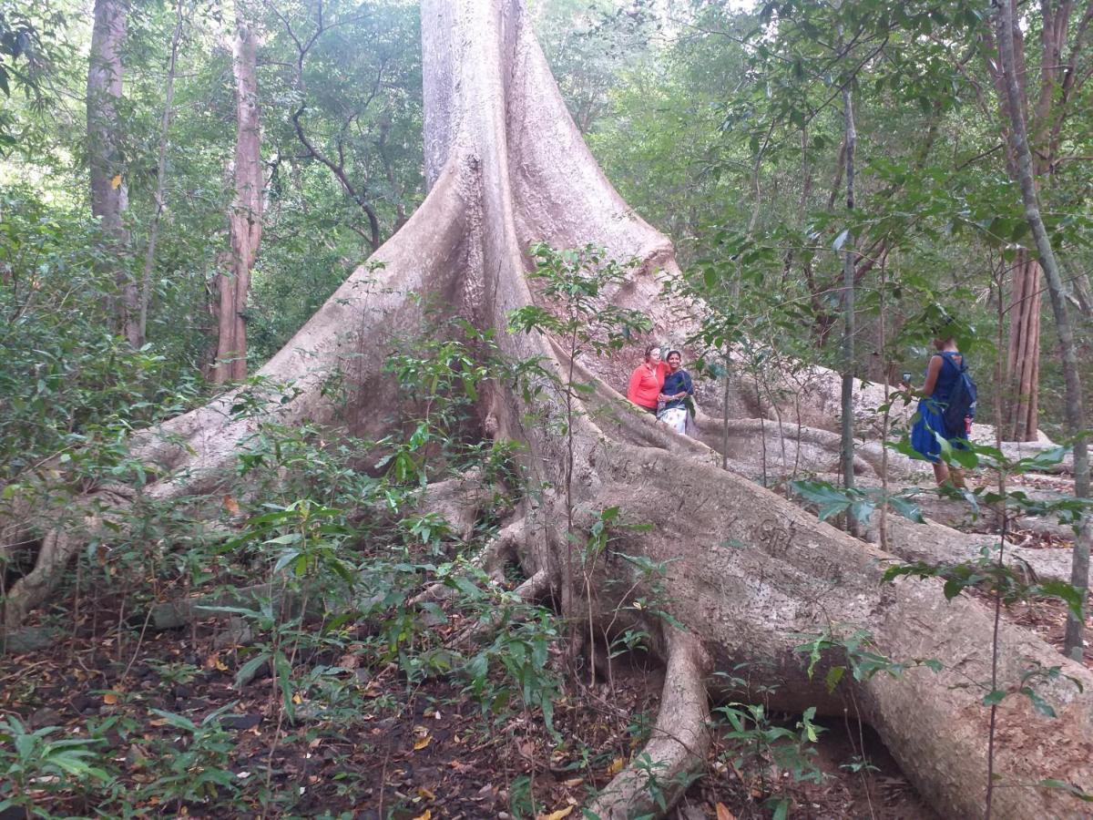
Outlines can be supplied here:
<path id="1" fill-rule="evenodd" d="M 952 338 L 935 339 L 938 352 L 926 366 L 926 383 L 918 412 L 910 429 L 910 446 L 933 465 L 938 487 L 952 482 L 964 487 L 964 473 L 941 460 L 943 438 L 955 449 L 967 449 L 972 421 L 975 419 L 976 387 L 967 363 Z"/>

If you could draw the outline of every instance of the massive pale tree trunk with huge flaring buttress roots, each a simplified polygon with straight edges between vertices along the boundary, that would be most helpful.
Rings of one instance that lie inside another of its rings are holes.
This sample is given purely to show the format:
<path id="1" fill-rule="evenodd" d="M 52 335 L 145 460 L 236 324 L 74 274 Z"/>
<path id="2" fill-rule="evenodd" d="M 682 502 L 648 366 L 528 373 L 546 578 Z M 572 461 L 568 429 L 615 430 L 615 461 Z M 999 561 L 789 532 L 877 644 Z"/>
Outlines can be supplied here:
<path id="1" fill-rule="evenodd" d="M 513 360 L 541 356 L 562 374 L 569 366 L 553 340 L 505 331 L 509 312 L 534 301 L 525 278 L 532 241 L 574 247 L 596 243 L 611 256 L 643 260 L 642 270 L 615 292 L 614 303 L 642 308 L 659 331 L 678 328 L 659 300 L 657 270 L 673 270 L 670 243 L 627 208 L 603 177 L 574 127 L 537 45 L 519 0 L 425 0 L 422 4 L 425 68 L 425 167 L 430 194 L 407 225 L 375 255 L 381 267 L 361 268 L 262 368 L 298 390 L 271 400 L 265 417 L 233 417 L 228 394 L 140 436 L 133 452 L 163 476 L 145 492 L 158 499 L 208 492 L 233 464 L 238 442 L 265 419 L 291 423 L 331 421 L 321 385 L 341 370 L 355 382 L 352 419 L 364 434 L 392 402 L 381 372 L 388 341 L 421 323 L 428 291 L 482 328 Z M 653 525 L 620 534 L 619 552 L 663 566 L 662 606 L 683 631 L 646 624 L 657 639 L 668 675 L 661 715 L 647 747 L 649 761 L 624 770 L 595 806 L 601 818 L 658 813 L 646 786 L 648 772 L 671 790 L 671 775 L 705 754 L 708 712 L 703 693 L 708 670 L 749 664 L 755 684 L 777 686 L 772 705 L 809 705 L 844 714 L 854 704 L 877 728 L 908 777 L 948 817 L 980 813 L 986 790 L 988 712 L 982 703 L 990 680 L 991 622 L 973 600 L 947 602 L 940 584 L 905 579 L 882 586 L 891 555 L 820 524 L 774 493 L 721 469 L 713 449 L 635 412 L 611 388 L 636 361 L 581 360 L 580 374 L 597 379 L 575 414 L 572 432 L 573 497 L 577 531 L 599 511 L 618 506 L 623 520 Z M 543 423 L 525 423 L 529 411 Z M 516 560 L 528 593 L 560 591 L 565 555 L 566 443 L 551 431 L 564 418 L 563 396 L 545 390 L 534 408 L 494 385 L 482 397 L 483 430 L 520 438 L 537 492 L 521 504 L 494 555 Z M 716 429 L 716 427 L 715 427 Z M 717 435 L 712 436 L 716 443 Z M 837 441 L 837 440 L 836 440 Z M 832 450 L 837 454 L 837 447 Z M 731 464 L 731 462 L 730 462 Z M 650 507 L 649 499 L 660 502 Z M 94 525 L 94 522 L 91 522 Z M 670 535 L 669 535 L 670 532 Z M 79 543 L 75 531 L 52 530 L 39 567 L 12 590 L 5 612 L 15 625 L 42 599 L 56 566 Z M 51 538 L 51 540 L 50 540 Z M 592 600 L 581 590 L 571 618 L 591 617 L 593 629 L 619 617 L 612 589 L 639 582 L 616 552 L 601 555 L 592 574 Z M 640 584 L 638 584 L 640 587 Z M 642 588 L 645 595 L 658 595 Z M 555 599 L 563 597 L 555 595 Z M 587 634 L 587 622 L 577 634 Z M 802 634 L 868 630 L 874 649 L 894 660 L 936 658 L 940 672 L 914 668 L 847 680 L 834 692 L 823 683 L 827 665 L 806 673 L 794 647 Z M 1093 676 L 1042 641 L 1003 625 L 999 643 L 1001 688 L 1018 687 L 1030 664 L 1061 667 L 1084 687 L 1054 680 L 1039 686 L 1059 719 L 1034 712 L 1026 699 L 999 706 L 995 771 L 1000 817 L 1066 817 L 1080 806 L 1058 789 L 1036 788 L 1043 777 L 1093 782 Z M 739 694 L 739 693 L 738 693 Z"/>

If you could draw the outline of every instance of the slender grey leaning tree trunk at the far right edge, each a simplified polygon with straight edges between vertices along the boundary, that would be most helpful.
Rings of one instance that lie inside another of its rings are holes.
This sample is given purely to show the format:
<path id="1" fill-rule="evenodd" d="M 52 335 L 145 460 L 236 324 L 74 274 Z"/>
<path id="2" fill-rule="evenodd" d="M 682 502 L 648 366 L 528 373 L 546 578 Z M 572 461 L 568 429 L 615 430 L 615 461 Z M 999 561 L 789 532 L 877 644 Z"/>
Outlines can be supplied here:
<path id="1" fill-rule="evenodd" d="M 1074 344 L 1073 330 L 1070 325 L 1070 314 L 1067 309 L 1066 294 L 1062 289 L 1062 277 L 1055 258 L 1055 249 L 1044 226 L 1039 210 L 1039 195 L 1036 190 L 1036 179 L 1033 173 L 1032 151 L 1029 148 L 1029 134 L 1025 124 L 1021 92 L 1018 86 L 1018 63 L 1014 48 L 1013 2 L 1002 0 L 998 7 L 998 56 L 999 65 L 1006 80 L 1006 95 L 1010 115 L 1010 142 L 1018 163 L 1018 181 L 1021 185 L 1021 198 L 1024 201 L 1025 219 L 1032 229 L 1036 242 L 1036 251 L 1047 279 L 1047 292 L 1051 297 L 1051 311 L 1055 314 L 1055 325 L 1059 332 L 1059 353 L 1062 359 L 1062 375 L 1067 385 L 1067 432 L 1079 436 L 1085 430 L 1085 409 L 1082 406 L 1082 384 L 1078 371 L 1078 349 Z M 1074 495 L 1088 499 L 1090 495 L 1089 448 L 1084 437 L 1074 442 Z M 1082 517 L 1078 537 L 1074 539 L 1074 554 L 1070 583 L 1082 595 L 1083 602 L 1089 589 L 1090 564 L 1090 522 Z M 1072 614 L 1067 617 L 1065 651 L 1076 659 L 1082 656 L 1082 619 Z"/>

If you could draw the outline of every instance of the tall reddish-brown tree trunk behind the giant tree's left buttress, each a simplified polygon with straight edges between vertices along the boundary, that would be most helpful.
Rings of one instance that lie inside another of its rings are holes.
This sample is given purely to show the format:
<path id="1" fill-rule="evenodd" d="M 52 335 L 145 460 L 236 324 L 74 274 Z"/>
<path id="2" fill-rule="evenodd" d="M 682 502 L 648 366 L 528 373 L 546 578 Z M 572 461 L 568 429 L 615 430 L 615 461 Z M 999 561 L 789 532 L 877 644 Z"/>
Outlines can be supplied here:
<path id="1" fill-rule="evenodd" d="M 232 71 L 235 75 L 235 197 L 227 216 L 231 272 L 220 277 L 216 363 L 218 384 L 247 376 L 247 293 L 250 270 L 262 238 L 262 155 L 258 106 L 258 35 L 247 25 L 243 3 L 235 3 Z"/>

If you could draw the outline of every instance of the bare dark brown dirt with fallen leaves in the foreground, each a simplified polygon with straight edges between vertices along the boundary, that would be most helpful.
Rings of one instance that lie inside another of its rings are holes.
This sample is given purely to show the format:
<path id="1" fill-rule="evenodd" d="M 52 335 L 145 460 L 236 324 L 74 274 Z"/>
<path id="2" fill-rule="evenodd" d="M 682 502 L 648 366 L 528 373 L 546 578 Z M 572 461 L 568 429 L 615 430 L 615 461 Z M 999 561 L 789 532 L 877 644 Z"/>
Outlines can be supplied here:
<path id="1" fill-rule="evenodd" d="M 500 722 L 483 715 L 455 678 L 432 677 L 411 687 L 393 666 L 375 673 L 354 669 L 351 645 L 337 658 L 313 655 L 297 661 L 301 668 L 337 663 L 356 698 L 346 708 L 328 703 L 314 712 L 301 699 L 293 723 L 279 706 L 268 669 L 236 689 L 240 657 L 238 648 L 224 646 L 222 623 L 210 620 L 141 636 L 118 612 L 96 611 L 97 618 L 84 616 L 67 641 L 3 658 L 0 711 L 19 715 L 32 728 L 58 726 L 71 736 L 87 731 L 89 722 L 115 718 L 106 731 L 109 754 L 131 795 L 129 809 L 144 816 L 560 820 L 568 815 L 557 812 L 569 809 L 579 817 L 577 807 L 589 788 L 602 787 L 639 749 L 661 686 L 658 669 L 624 659 L 613 670 L 613 687 L 569 681 L 555 704 L 555 738 L 538 711 L 509 711 Z M 1015 605 L 1006 617 L 1049 641 L 1061 639 L 1065 611 L 1054 601 Z M 240 783 L 263 781 L 269 792 L 294 799 L 263 805 L 261 789 L 251 797 L 244 789 L 225 808 L 220 798 L 164 803 L 154 788 L 142 792 L 154 785 L 145 762 L 150 743 L 167 745 L 161 750 L 186 747 L 154 710 L 195 723 L 224 710 L 226 765 L 234 776 Z M 772 715 L 769 727 L 792 730 L 798 719 Z M 849 716 L 816 723 L 822 728 L 818 742 L 802 755 L 810 774 L 800 778 L 790 770 L 801 761 L 791 759 L 783 768 L 769 750 L 741 749 L 722 722 L 706 771 L 673 817 L 768 818 L 779 801 L 798 818 L 936 817 L 870 728 Z M 862 761 L 867 765 L 855 771 L 855 762 Z M 75 795 L 43 795 L 39 806 L 77 817 L 96 810 Z M 118 813 L 104 806 L 97 810 Z M 15 817 L 25 815 L 0 812 L 2 820 Z"/>

